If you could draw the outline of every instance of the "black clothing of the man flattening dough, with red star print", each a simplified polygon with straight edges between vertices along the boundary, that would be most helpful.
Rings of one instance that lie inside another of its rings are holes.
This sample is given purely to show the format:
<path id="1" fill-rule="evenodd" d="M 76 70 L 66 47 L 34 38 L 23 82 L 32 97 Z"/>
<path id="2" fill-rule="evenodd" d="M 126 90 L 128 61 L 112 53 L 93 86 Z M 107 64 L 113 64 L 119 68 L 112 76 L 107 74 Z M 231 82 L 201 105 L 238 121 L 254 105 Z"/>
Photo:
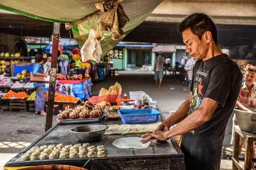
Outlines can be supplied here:
<path id="1" fill-rule="evenodd" d="M 182 135 L 181 150 L 186 170 L 219 170 L 227 122 L 236 105 L 242 83 L 239 66 L 227 54 L 196 61 L 193 68 L 192 100 L 187 116 L 201 105 L 203 98 L 218 102 L 209 121 Z"/>

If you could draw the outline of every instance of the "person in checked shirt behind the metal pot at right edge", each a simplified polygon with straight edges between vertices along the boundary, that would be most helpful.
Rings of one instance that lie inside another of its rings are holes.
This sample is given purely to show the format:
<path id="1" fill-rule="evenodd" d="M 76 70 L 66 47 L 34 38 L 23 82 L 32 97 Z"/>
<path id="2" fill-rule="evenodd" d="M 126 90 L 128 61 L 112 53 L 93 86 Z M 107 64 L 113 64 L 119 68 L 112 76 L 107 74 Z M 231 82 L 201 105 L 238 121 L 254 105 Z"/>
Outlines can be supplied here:
<path id="1" fill-rule="evenodd" d="M 242 111 L 253 112 L 249 108 L 256 108 L 256 67 L 250 64 L 247 64 L 244 67 L 244 76 L 245 82 L 242 83 L 241 90 L 236 102 L 236 107 L 238 107 Z M 235 131 L 234 125 L 238 125 L 236 114 L 233 116 L 233 130 L 232 130 L 232 138 L 231 144 L 233 144 Z M 246 140 L 240 137 L 240 147 L 239 147 L 239 155 L 241 154 L 242 146 L 245 146 Z M 255 144 L 253 148 L 255 148 Z M 255 150 L 254 150 L 255 153 Z M 254 158 L 253 154 L 253 158 Z"/>

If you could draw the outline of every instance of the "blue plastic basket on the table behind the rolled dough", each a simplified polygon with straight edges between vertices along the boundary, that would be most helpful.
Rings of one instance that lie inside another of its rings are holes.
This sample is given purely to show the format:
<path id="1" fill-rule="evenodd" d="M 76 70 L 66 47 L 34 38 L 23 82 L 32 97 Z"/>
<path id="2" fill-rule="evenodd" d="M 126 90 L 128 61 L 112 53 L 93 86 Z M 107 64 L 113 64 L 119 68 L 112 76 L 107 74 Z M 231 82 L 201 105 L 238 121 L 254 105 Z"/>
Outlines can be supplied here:
<path id="1" fill-rule="evenodd" d="M 143 124 L 157 122 L 161 113 L 156 109 L 133 109 L 119 110 L 118 114 L 123 124 Z"/>

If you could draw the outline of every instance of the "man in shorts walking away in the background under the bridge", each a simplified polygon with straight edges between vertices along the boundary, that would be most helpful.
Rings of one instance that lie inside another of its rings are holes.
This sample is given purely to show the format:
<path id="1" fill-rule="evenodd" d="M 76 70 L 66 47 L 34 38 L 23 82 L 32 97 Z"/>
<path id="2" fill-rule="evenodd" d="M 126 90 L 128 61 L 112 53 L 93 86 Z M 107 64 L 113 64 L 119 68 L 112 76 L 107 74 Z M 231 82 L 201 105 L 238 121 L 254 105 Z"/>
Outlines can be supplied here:
<path id="1" fill-rule="evenodd" d="M 163 64 L 165 63 L 165 59 L 163 58 L 163 53 L 160 51 L 158 53 L 157 58 L 154 61 L 154 79 L 156 80 L 156 86 L 158 86 L 159 79 L 159 87 L 161 87 L 163 80 Z"/>

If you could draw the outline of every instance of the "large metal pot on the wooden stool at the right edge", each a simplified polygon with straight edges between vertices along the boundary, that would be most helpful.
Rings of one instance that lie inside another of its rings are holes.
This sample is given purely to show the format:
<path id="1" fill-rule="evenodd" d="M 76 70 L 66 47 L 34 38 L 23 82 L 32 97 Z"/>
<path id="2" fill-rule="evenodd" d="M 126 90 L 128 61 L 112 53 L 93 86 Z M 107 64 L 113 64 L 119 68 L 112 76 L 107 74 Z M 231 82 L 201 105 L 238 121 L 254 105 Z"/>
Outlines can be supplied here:
<path id="1" fill-rule="evenodd" d="M 252 111 L 255 111 L 256 108 L 249 108 Z M 256 113 L 250 113 L 247 111 L 241 111 L 239 109 L 234 109 L 236 113 L 237 123 L 241 130 L 247 132 L 256 133 Z"/>

